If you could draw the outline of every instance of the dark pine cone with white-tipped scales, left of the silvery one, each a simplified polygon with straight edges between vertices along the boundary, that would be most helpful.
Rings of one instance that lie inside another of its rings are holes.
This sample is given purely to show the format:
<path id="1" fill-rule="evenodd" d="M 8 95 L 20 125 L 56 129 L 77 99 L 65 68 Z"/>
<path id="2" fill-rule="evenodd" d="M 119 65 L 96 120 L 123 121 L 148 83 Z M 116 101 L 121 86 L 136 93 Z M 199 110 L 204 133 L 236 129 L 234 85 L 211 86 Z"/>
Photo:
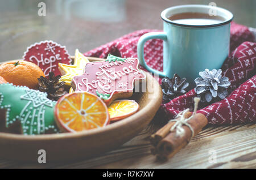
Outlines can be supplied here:
<path id="1" fill-rule="evenodd" d="M 163 78 L 162 79 L 162 91 L 163 91 L 163 103 L 170 102 L 173 98 L 183 95 L 188 87 L 189 83 L 185 82 L 187 79 L 174 74 L 174 78 Z"/>

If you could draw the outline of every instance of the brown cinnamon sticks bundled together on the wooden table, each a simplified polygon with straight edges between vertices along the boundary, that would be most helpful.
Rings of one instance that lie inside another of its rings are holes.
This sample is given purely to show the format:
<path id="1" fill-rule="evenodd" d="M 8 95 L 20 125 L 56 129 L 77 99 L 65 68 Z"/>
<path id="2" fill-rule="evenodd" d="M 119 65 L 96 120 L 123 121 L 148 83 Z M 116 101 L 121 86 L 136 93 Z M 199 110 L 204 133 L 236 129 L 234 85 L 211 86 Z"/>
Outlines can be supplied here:
<path id="1" fill-rule="evenodd" d="M 191 115 L 191 112 L 184 114 L 185 118 L 189 118 Z M 177 152 L 179 152 L 180 149 L 185 147 L 191 138 L 193 138 L 192 131 L 187 125 L 182 126 L 184 130 L 183 135 L 177 135 L 176 128 L 174 131 L 170 132 L 171 127 L 174 126 L 175 123 L 176 122 L 167 123 L 167 125 L 151 136 L 151 144 L 153 145 L 151 152 L 156 154 L 156 156 L 160 159 L 171 158 Z M 207 125 L 208 121 L 205 115 L 197 113 L 194 114 L 193 117 L 187 121 L 187 123 L 193 129 L 193 136 L 196 136 L 202 130 L 202 128 Z"/>

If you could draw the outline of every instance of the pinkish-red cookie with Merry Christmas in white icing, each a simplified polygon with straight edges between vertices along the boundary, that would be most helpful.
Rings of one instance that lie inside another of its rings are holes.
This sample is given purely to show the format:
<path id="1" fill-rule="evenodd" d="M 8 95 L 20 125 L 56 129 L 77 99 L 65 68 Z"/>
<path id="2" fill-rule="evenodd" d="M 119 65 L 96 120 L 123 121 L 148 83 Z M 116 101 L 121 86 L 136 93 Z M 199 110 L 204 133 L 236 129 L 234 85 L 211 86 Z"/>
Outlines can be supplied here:
<path id="1" fill-rule="evenodd" d="M 89 62 L 84 74 L 74 76 L 72 87 L 77 92 L 90 92 L 109 105 L 115 98 L 133 95 L 134 81 L 145 79 L 137 58 L 109 55 L 106 61 Z"/>

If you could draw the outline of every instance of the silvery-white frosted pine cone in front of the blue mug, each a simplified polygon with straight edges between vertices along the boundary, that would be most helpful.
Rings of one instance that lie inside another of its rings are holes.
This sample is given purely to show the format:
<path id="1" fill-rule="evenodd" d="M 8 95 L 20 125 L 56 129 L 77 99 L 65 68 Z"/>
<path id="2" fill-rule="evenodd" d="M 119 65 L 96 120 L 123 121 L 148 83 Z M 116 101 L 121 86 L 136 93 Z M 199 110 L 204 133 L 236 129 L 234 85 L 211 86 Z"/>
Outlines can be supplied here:
<path id="1" fill-rule="evenodd" d="M 213 97 L 217 96 L 221 99 L 228 96 L 229 78 L 222 77 L 221 72 L 221 69 L 209 71 L 208 68 L 203 72 L 199 72 L 201 77 L 195 79 L 195 91 L 201 97 L 202 102 L 210 102 Z"/>

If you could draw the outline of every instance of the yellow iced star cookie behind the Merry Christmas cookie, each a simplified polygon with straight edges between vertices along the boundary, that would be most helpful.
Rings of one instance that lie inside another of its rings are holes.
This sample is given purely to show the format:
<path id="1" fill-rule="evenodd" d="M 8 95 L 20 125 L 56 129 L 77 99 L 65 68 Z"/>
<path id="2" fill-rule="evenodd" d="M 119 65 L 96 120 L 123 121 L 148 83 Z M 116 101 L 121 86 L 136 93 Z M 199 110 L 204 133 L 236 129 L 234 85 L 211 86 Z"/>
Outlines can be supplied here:
<path id="1" fill-rule="evenodd" d="M 75 60 L 73 65 L 67 65 L 64 63 L 59 63 L 59 70 L 61 72 L 61 82 L 65 82 L 66 85 L 71 85 L 74 76 L 82 75 L 84 73 L 84 68 L 89 60 L 76 49 Z"/>

